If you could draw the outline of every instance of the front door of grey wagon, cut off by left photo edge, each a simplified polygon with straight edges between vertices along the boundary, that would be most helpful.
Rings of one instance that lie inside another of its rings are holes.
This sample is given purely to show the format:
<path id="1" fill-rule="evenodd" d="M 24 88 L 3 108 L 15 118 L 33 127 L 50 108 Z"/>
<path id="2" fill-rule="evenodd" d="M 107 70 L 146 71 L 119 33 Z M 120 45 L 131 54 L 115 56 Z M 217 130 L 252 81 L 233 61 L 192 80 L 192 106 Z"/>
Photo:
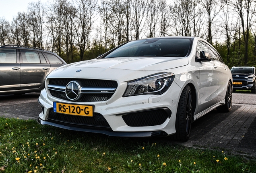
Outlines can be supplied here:
<path id="1" fill-rule="evenodd" d="M 19 57 L 19 54 L 18 54 Z M 19 90 L 21 80 L 21 65 L 16 49 L 0 50 L 0 92 Z M 2 93 L 2 92 L 1 92 Z"/>

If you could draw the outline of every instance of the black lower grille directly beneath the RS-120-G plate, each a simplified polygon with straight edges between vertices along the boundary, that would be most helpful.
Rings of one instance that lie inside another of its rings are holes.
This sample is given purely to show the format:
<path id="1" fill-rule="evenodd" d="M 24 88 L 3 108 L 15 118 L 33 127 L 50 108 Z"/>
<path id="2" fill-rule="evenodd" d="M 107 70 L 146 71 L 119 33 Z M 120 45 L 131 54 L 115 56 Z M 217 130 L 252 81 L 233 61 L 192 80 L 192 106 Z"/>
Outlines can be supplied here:
<path id="1" fill-rule="evenodd" d="M 85 116 L 55 113 L 51 109 L 49 112 L 48 121 L 54 122 L 57 124 L 68 123 L 70 126 L 104 127 L 104 128 L 111 129 L 106 119 L 100 113 L 94 113 L 93 117 L 85 117 Z"/>

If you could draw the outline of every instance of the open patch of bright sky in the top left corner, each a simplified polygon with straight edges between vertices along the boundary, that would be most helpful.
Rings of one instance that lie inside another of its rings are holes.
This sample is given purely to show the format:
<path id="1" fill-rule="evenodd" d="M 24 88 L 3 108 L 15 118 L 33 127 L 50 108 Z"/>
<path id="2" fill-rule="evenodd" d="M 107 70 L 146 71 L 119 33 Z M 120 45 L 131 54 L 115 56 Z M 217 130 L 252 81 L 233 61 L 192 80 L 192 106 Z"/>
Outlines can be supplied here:
<path id="1" fill-rule="evenodd" d="M 39 0 L 0 0 L 0 18 L 12 21 L 18 12 L 27 12 L 29 2 L 38 2 Z M 42 3 L 47 0 L 41 0 Z"/>

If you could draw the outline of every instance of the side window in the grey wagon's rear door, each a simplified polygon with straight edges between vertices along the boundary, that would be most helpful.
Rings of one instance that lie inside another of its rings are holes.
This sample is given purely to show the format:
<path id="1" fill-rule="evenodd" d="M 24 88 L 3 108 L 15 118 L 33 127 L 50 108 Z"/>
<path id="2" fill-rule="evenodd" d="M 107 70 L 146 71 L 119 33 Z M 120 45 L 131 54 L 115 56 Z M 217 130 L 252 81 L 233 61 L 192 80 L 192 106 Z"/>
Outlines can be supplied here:
<path id="1" fill-rule="evenodd" d="M 40 64 L 40 58 L 37 51 L 21 49 L 21 56 L 23 63 Z"/>

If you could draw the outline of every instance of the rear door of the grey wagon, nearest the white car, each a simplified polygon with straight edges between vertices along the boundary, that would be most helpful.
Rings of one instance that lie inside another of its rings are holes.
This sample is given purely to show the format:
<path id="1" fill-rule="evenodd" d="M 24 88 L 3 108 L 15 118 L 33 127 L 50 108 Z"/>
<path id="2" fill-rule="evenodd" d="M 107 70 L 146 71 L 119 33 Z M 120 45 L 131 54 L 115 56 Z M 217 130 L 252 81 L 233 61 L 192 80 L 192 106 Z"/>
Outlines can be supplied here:
<path id="1" fill-rule="evenodd" d="M 44 85 L 50 70 L 43 54 L 36 50 L 21 49 L 21 89 L 37 89 Z"/>

